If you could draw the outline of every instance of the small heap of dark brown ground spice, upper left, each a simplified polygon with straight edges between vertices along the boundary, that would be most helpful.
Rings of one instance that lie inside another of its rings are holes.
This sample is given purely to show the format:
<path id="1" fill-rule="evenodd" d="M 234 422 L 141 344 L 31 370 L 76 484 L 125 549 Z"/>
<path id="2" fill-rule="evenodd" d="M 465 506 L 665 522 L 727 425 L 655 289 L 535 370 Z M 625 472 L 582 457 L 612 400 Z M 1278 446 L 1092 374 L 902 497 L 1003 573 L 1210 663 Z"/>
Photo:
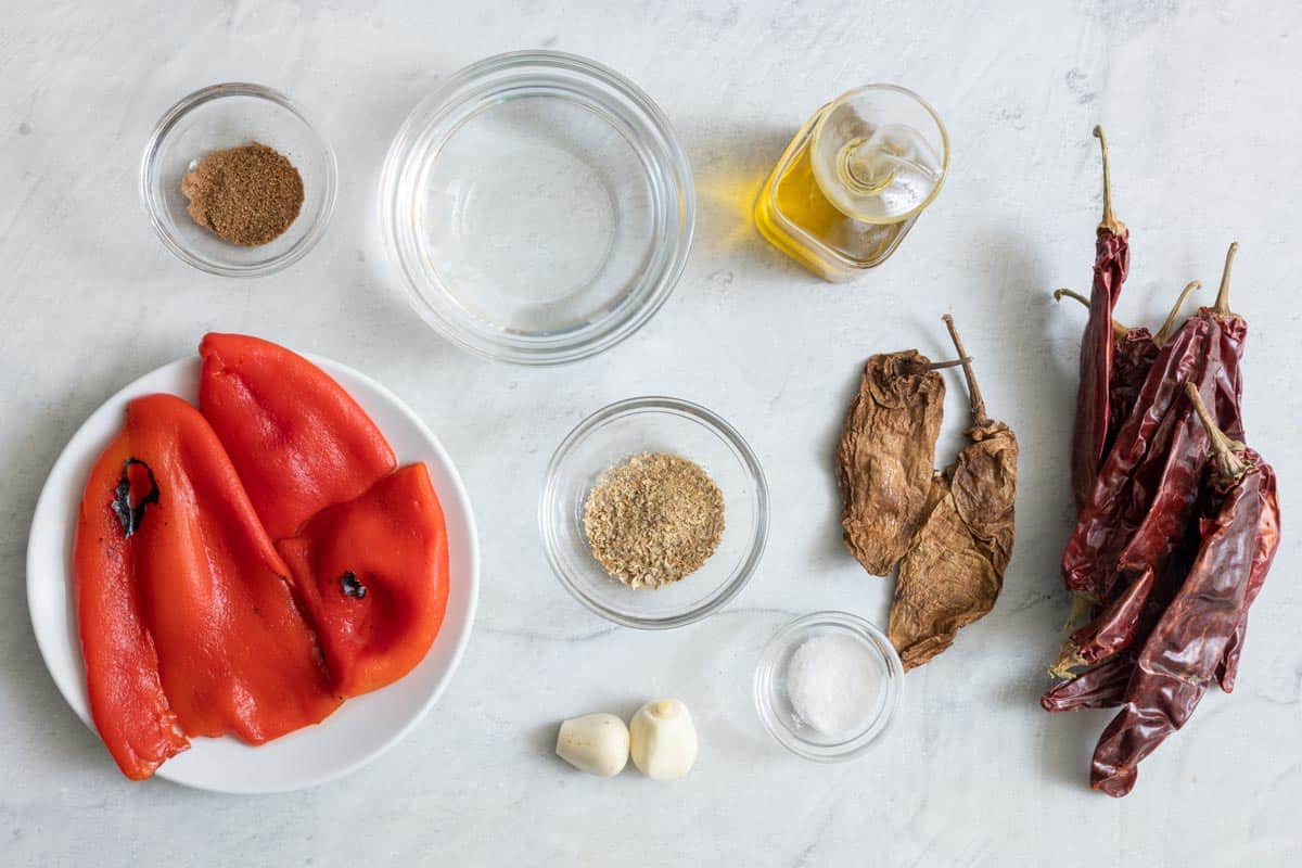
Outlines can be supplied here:
<path id="1" fill-rule="evenodd" d="M 289 229 L 303 206 L 303 178 L 283 154 L 258 142 L 214 151 L 181 178 L 197 224 L 233 245 L 255 247 Z"/>

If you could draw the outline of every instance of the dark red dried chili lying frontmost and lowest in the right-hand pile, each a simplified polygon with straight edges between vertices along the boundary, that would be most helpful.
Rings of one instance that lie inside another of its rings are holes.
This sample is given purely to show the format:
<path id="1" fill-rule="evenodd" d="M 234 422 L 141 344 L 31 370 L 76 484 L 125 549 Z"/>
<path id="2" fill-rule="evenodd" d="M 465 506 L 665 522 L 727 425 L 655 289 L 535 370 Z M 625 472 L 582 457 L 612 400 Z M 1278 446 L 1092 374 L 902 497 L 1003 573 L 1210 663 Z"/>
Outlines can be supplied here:
<path id="1" fill-rule="evenodd" d="M 1185 725 L 1223 665 L 1280 541 L 1275 472 L 1230 440 L 1193 384 L 1186 385 L 1212 450 L 1193 569 L 1139 652 L 1126 704 L 1094 751 L 1090 786 L 1128 794 L 1137 766 Z"/>

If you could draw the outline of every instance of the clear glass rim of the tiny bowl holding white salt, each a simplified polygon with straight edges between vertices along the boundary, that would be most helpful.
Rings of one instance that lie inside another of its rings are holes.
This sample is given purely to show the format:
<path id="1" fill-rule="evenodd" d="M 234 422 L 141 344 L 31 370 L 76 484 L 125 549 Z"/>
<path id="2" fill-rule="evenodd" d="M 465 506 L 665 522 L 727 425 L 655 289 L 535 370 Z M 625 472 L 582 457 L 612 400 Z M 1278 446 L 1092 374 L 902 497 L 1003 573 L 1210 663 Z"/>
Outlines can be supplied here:
<path id="1" fill-rule="evenodd" d="M 887 700 L 881 713 L 874 718 L 866 730 L 837 744 L 814 744 L 802 739 L 779 722 L 777 714 L 769 703 L 769 696 L 772 695 L 769 681 L 775 674 L 773 669 L 777 664 L 777 656 L 799 634 L 823 625 L 849 629 L 867 638 L 870 644 L 881 653 L 888 673 L 885 679 Z M 755 701 L 755 712 L 759 714 L 764 729 L 773 737 L 773 740 L 806 760 L 814 760 L 815 763 L 841 763 L 862 755 L 878 737 L 889 729 L 891 722 L 894 720 L 896 709 L 900 705 L 900 698 L 904 694 L 904 662 L 900 660 L 900 655 L 896 653 L 894 645 L 891 644 L 891 639 L 871 621 L 850 612 L 835 609 L 811 612 L 788 621 L 764 643 L 764 649 L 759 655 L 759 662 L 755 664 L 751 694 Z"/>

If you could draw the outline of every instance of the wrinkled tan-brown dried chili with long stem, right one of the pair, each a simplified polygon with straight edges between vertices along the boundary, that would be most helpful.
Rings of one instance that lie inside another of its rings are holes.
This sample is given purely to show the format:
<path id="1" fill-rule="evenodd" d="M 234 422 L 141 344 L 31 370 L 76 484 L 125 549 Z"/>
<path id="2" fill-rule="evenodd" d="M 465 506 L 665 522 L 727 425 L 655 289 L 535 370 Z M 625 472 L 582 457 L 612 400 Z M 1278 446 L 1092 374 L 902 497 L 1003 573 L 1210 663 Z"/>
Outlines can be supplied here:
<path id="1" fill-rule="evenodd" d="M 953 319 L 945 325 L 967 358 Z M 900 562 L 888 635 L 905 669 L 927 662 L 954 642 L 961 627 L 990 612 L 1013 554 L 1017 439 L 986 415 L 971 364 L 963 364 L 971 402 L 971 442 L 936 474 L 926 521 Z"/>

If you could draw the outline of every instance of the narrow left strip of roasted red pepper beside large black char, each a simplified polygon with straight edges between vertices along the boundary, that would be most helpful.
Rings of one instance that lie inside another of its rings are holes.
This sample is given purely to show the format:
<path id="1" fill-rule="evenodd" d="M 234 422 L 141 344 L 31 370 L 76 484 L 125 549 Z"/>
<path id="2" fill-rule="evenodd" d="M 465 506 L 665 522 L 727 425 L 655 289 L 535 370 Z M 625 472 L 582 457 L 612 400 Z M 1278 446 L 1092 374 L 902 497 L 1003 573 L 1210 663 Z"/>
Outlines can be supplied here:
<path id="1" fill-rule="evenodd" d="M 141 781 L 190 742 L 163 692 L 158 651 L 141 616 L 135 539 L 128 532 L 143 523 L 154 489 L 146 483 L 133 491 L 143 468 L 132 458 L 124 431 L 90 471 L 73 543 L 73 593 L 91 718 L 122 774 Z"/>

